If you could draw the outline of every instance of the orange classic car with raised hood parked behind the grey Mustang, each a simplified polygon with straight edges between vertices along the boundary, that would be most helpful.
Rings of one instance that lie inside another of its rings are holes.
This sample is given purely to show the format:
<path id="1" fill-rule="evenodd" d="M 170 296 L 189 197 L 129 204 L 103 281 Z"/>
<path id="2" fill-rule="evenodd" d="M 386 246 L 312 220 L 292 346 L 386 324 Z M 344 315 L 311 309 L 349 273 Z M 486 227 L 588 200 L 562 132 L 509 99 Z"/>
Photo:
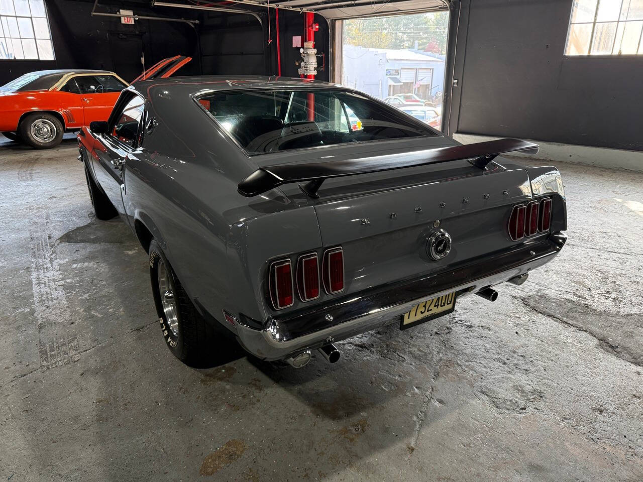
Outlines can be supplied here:
<path id="1" fill-rule="evenodd" d="M 132 80 L 164 78 L 192 58 L 165 58 Z M 0 87 L 0 132 L 14 141 L 46 149 L 65 131 L 109 118 L 127 82 L 103 70 L 41 70 Z"/>

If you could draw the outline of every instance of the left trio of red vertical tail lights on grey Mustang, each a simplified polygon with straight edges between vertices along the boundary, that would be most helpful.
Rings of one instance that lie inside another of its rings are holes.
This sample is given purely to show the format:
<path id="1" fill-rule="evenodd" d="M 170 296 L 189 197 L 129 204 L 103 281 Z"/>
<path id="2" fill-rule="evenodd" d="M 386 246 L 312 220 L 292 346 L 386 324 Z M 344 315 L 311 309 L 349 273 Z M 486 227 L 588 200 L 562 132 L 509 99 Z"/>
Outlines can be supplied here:
<path id="1" fill-rule="evenodd" d="M 300 254 L 294 262 L 284 258 L 270 263 L 268 290 L 275 310 L 291 307 L 294 294 L 304 303 L 320 297 L 321 285 L 326 294 L 336 294 L 344 289 L 344 253 L 340 246 L 324 251 L 319 257 L 315 251 Z"/>

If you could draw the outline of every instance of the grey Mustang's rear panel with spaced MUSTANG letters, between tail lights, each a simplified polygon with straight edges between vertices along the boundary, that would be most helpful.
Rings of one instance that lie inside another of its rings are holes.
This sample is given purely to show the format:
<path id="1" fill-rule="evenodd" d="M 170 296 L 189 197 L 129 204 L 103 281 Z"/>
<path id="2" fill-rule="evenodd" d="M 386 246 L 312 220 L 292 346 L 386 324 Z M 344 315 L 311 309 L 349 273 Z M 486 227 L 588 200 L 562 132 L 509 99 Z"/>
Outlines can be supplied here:
<path id="1" fill-rule="evenodd" d="M 442 271 L 514 244 L 507 223 L 511 207 L 530 197 L 527 172 L 449 174 L 315 206 L 322 244 L 343 247 L 347 292 Z M 432 260 L 427 241 L 440 229 L 450 235 L 451 251 Z"/>

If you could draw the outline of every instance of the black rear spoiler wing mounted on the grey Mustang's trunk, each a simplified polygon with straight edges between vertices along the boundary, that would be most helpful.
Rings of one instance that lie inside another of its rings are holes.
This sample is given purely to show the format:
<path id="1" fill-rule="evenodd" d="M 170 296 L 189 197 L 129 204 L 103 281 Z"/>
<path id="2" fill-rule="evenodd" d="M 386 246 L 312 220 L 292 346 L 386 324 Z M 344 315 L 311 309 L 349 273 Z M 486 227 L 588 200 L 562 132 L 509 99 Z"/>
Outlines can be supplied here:
<path id="1" fill-rule="evenodd" d="M 239 193 L 253 197 L 274 189 L 282 184 L 303 183 L 299 186 L 303 193 L 310 197 L 319 197 L 317 190 L 324 179 L 345 175 L 368 174 L 371 172 L 389 171 L 428 164 L 446 163 L 468 159 L 471 164 L 486 169 L 499 154 L 507 152 L 525 152 L 536 154 L 538 144 L 520 139 L 498 139 L 496 141 L 478 142 L 461 146 L 439 147 L 435 149 L 406 152 L 404 154 L 387 154 L 386 156 L 359 157 L 343 161 L 325 161 L 322 163 L 282 164 L 258 168 L 237 185 Z"/>

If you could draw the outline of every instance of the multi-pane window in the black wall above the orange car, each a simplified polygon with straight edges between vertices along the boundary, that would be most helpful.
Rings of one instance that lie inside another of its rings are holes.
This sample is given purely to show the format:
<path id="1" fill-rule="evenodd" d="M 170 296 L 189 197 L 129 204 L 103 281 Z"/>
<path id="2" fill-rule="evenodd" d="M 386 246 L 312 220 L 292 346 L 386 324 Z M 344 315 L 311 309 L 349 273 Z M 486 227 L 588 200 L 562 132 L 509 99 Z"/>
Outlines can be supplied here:
<path id="1" fill-rule="evenodd" d="M 0 0 L 0 60 L 53 60 L 44 0 Z"/>

